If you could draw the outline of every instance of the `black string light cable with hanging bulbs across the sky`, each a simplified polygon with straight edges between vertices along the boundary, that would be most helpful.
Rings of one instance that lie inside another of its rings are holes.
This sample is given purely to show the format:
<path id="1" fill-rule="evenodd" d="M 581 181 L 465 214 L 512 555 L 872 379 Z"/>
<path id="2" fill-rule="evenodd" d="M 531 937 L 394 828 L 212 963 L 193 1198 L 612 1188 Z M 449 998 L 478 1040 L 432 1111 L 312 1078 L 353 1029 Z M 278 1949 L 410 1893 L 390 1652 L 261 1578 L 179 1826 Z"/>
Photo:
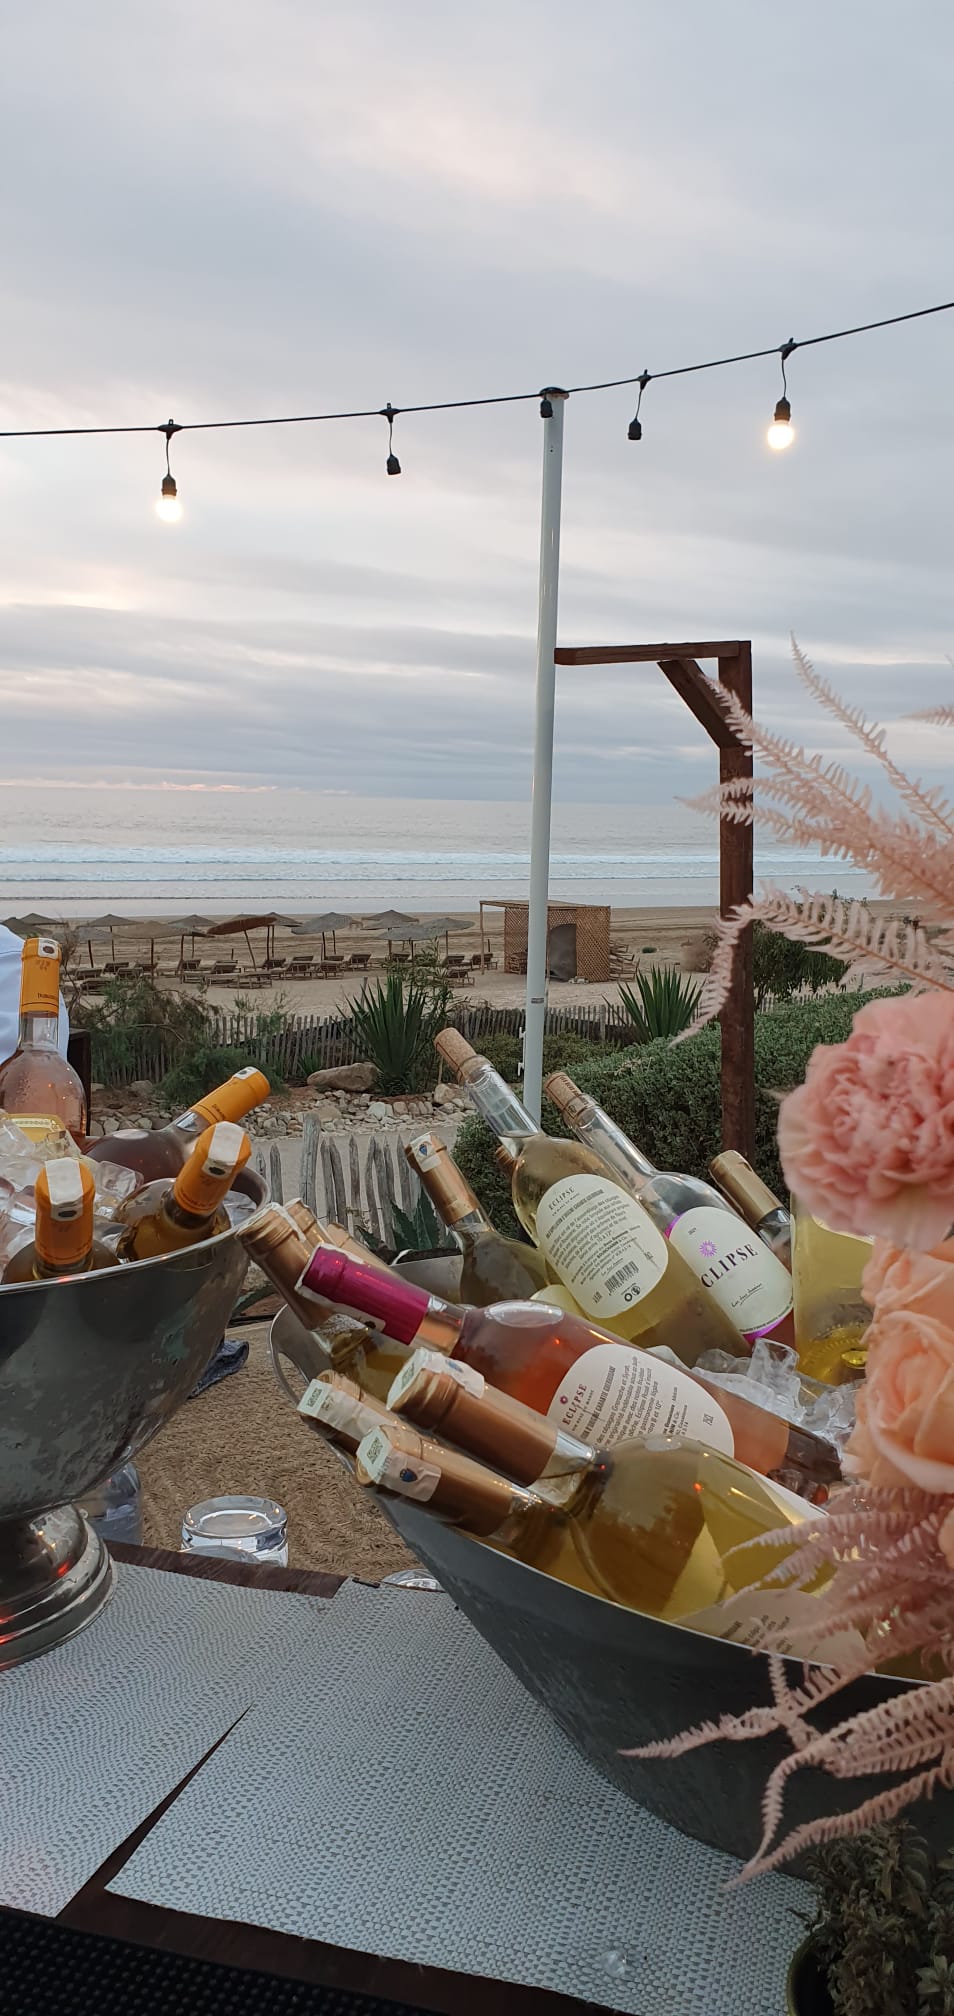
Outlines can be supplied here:
<path id="1" fill-rule="evenodd" d="M 883 314 L 875 323 L 855 323 L 851 329 L 831 329 L 821 337 L 789 337 L 787 343 L 772 343 L 758 351 L 736 351 L 732 357 L 708 357 L 694 365 L 672 365 L 666 371 L 639 371 L 629 377 L 617 379 L 597 379 L 589 385 L 569 385 L 565 397 L 579 397 L 583 393 L 597 391 L 621 391 L 629 385 L 637 387 L 635 415 L 627 427 L 629 442 L 641 442 L 643 427 L 639 419 L 639 407 L 645 387 L 653 379 L 690 377 L 698 371 L 724 371 L 730 365 L 758 363 L 764 357 L 779 357 L 783 369 L 783 397 L 777 401 L 774 417 L 768 427 L 766 439 L 770 448 L 789 448 L 795 439 L 795 427 L 791 423 L 791 403 L 787 385 L 787 361 L 793 351 L 817 349 L 823 343 L 841 343 L 847 337 L 865 337 L 875 329 L 896 329 L 902 323 L 920 323 L 932 314 L 950 314 L 954 310 L 954 300 L 938 300 L 930 308 L 908 308 L 904 314 Z M 468 399 L 426 399 L 418 405 L 395 407 L 391 401 L 387 405 L 351 407 L 345 411 L 329 413 L 268 413 L 268 415 L 248 415 L 240 419 L 167 419 L 155 425 L 155 421 L 139 421 L 127 425 L 95 425 L 95 427 L 0 427 L 0 442 L 48 442 L 85 435 L 107 435 L 107 433 L 161 433 L 165 435 L 165 476 L 161 480 L 159 500 L 155 510 L 167 522 L 182 516 L 182 504 L 177 496 L 175 478 L 169 470 L 169 442 L 173 433 L 218 433 L 222 429 L 234 427 L 313 427 L 325 425 L 341 419 L 385 419 L 387 421 L 387 476 L 399 476 L 401 464 L 393 452 L 393 423 L 397 415 L 407 413 L 464 413 L 474 407 L 486 405 L 526 405 L 530 401 L 541 401 L 541 415 L 547 419 L 553 413 L 551 399 L 547 397 L 547 387 L 543 393 L 534 391 L 508 391 L 508 393 L 488 393 L 484 397 Z"/>

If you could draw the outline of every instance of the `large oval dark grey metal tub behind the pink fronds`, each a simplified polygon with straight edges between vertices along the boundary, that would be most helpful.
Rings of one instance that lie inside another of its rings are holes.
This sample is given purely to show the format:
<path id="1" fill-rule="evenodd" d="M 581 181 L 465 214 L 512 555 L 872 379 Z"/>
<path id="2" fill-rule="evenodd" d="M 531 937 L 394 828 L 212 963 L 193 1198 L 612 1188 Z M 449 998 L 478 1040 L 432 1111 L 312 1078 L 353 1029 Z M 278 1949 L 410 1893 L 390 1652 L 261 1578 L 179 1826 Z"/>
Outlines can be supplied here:
<path id="1" fill-rule="evenodd" d="M 315 1353 L 315 1339 L 309 1339 L 290 1310 L 276 1316 L 270 1347 L 272 1363 L 284 1355 L 301 1379 L 315 1377 L 325 1367 L 321 1353 Z M 288 1379 L 282 1377 L 282 1385 L 296 1399 Z M 718 1722 L 742 1708 L 768 1704 L 764 1653 L 589 1597 L 482 1546 L 456 1526 L 444 1526 L 407 1498 L 381 1494 L 379 1504 L 418 1560 L 603 1778 L 694 1841 L 706 1841 L 742 1861 L 754 1853 L 766 1776 L 789 1754 L 783 1738 L 710 1744 L 676 1762 L 641 1762 L 619 1752 L 676 1736 L 698 1722 Z M 797 1685 L 803 1665 L 795 1659 L 787 1665 Z M 831 1728 L 910 1685 L 916 1681 L 867 1675 L 835 1695 L 815 1716 L 815 1724 L 819 1730 Z M 462 1702 L 466 1704 L 466 1675 Z M 875 1778 L 843 1782 L 803 1768 L 785 1794 L 785 1831 L 817 1814 L 857 1806 L 883 1790 L 883 1784 L 885 1780 Z M 938 1855 L 950 1847 L 952 1792 L 918 1802 L 910 1816 Z M 799 1867 L 799 1861 L 787 1865 L 789 1871 Z"/>

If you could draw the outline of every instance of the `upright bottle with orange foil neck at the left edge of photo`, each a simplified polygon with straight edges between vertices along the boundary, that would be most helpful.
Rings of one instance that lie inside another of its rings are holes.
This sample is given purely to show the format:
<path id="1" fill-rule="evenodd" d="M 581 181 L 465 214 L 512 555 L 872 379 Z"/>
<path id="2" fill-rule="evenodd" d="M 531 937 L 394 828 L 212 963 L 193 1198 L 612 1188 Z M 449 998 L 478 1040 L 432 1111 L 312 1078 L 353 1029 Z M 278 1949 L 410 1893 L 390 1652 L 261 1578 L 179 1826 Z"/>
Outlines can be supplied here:
<path id="1" fill-rule="evenodd" d="M 20 964 L 20 1040 L 0 1064 L 0 1113 L 32 1141 L 71 1133 L 87 1139 L 87 1095 L 73 1064 L 61 1056 L 61 948 L 54 937 L 28 937 Z"/>

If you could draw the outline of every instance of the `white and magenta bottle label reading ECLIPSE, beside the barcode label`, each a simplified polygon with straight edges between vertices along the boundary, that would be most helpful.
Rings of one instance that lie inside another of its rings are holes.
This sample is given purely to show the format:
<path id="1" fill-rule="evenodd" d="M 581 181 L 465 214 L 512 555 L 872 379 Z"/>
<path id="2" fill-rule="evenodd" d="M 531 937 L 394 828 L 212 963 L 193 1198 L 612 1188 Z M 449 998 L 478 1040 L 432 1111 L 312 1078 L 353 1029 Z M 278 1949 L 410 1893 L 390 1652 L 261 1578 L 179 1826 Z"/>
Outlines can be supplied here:
<path id="1" fill-rule="evenodd" d="M 670 1226 L 670 1244 L 742 1337 L 764 1337 L 791 1312 L 789 1270 L 734 1212 L 698 1204 Z"/>

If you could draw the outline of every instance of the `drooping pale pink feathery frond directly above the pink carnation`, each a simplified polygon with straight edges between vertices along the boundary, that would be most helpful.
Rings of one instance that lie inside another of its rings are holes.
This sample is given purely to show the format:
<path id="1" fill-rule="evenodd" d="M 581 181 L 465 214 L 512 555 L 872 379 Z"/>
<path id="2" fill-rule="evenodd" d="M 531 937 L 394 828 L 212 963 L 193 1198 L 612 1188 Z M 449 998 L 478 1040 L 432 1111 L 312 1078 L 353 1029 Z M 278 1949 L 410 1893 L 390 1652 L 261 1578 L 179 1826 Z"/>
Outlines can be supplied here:
<path id="1" fill-rule="evenodd" d="M 740 903 L 722 921 L 696 1016 L 690 1028 L 676 1038 L 678 1042 L 694 1036 L 724 1008 L 738 939 L 756 919 L 783 937 L 815 946 L 817 952 L 829 952 L 835 960 L 847 960 L 849 978 L 861 974 L 904 980 L 910 986 L 932 986 L 954 994 L 954 962 L 938 954 L 922 925 L 904 923 L 900 917 L 873 917 L 863 903 L 851 903 L 837 895 L 799 891 L 799 897 L 791 897 L 783 889 L 766 889 L 750 903 Z"/>

